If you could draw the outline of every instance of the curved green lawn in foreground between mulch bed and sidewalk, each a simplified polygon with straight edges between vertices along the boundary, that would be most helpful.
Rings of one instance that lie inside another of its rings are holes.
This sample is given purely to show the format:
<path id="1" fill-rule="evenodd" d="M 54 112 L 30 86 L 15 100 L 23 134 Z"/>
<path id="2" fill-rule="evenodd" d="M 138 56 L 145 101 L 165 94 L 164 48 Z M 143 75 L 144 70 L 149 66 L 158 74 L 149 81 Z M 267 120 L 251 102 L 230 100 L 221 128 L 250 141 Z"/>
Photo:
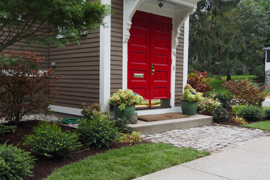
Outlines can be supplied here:
<path id="1" fill-rule="evenodd" d="M 64 165 L 47 179 L 133 179 L 208 154 L 164 143 L 147 143 L 89 156 Z"/>

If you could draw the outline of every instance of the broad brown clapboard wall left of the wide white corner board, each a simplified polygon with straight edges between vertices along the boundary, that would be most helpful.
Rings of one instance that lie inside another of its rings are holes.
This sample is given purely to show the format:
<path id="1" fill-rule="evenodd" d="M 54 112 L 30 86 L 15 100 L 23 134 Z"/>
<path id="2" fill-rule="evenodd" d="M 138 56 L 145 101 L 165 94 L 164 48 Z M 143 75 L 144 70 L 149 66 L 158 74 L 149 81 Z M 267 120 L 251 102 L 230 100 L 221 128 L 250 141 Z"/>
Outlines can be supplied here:
<path id="1" fill-rule="evenodd" d="M 60 75 L 53 87 L 58 87 L 59 95 L 54 104 L 80 108 L 99 102 L 99 30 L 80 41 L 80 45 L 70 44 L 65 48 L 49 48 L 49 64 L 55 62 L 55 75 Z"/>

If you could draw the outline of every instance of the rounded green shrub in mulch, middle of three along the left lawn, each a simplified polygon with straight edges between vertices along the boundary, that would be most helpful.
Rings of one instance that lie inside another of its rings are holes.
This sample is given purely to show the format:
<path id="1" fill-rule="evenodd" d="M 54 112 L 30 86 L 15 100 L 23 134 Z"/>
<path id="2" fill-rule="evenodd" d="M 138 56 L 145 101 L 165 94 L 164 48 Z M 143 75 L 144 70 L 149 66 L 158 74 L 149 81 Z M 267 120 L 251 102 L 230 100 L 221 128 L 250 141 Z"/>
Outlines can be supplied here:
<path id="1" fill-rule="evenodd" d="M 77 134 L 62 132 L 58 125 L 47 122 L 34 127 L 34 133 L 26 136 L 24 144 L 30 144 L 33 152 L 48 158 L 70 156 L 73 150 L 81 146 Z"/>

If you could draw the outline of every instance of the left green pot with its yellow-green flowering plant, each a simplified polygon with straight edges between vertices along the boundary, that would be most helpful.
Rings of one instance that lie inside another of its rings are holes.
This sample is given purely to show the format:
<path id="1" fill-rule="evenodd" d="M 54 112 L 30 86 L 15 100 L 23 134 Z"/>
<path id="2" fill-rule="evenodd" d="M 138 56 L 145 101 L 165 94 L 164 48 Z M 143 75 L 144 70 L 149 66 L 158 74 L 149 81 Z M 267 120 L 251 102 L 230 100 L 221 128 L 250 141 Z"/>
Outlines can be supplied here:
<path id="1" fill-rule="evenodd" d="M 135 105 L 143 102 L 143 97 L 134 93 L 131 89 L 118 89 L 117 93 L 114 93 L 109 98 L 109 105 L 114 105 L 114 115 L 116 118 L 127 118 L 135 112 Z"/>

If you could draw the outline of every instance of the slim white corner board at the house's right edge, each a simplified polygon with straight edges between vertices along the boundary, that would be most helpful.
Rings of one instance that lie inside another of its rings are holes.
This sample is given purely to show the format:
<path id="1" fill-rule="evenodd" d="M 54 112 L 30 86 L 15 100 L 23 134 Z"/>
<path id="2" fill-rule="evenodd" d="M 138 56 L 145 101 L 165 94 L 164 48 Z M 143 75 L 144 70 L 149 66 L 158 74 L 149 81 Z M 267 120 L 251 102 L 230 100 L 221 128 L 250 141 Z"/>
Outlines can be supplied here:
<path id="1" fill-rule="evenodd" d="M 188 80 L 188 35 L 190 30 L 190 18 L 185 21 L 183 35 L 183 87 L 186 86 Z"/>

